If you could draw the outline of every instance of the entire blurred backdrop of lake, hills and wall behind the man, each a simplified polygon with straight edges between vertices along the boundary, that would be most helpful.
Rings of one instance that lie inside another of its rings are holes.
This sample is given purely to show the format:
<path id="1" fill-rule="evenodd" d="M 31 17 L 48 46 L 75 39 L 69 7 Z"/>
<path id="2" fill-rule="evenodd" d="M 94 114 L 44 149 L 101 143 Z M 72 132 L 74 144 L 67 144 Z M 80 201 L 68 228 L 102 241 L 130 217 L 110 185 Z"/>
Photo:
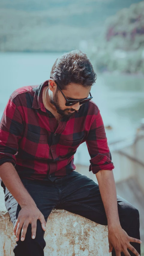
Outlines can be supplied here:
<path id="1" fill-rule="evenodd" d="M 144 1 L 1 0 L 0 118 L 15 89 L 49 79 L 56 58 L 75 49 L 87 53 L 97 73 L 91 93 L 104 121 L 117 194 L 139 209 L 144 243 Z M 97 182 L 89 159 L 83 143 L 76 170 Z"/>

